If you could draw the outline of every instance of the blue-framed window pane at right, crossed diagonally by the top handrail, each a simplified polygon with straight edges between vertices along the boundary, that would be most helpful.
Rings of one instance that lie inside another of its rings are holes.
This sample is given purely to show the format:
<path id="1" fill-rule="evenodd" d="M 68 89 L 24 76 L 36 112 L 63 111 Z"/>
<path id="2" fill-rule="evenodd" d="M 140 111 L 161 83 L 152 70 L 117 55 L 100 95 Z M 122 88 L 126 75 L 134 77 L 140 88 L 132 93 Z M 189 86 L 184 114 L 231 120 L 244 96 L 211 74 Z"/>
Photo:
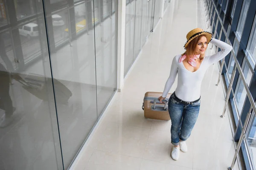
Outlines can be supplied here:
<path id="1" fill-rule="evenodd" d="M 244 74 L 244 78 L 247 82 L 247 85 L 250 86 L 250 81 L 252 79 L 253 73 L 250 71 L 250 68 L 245 60 L 242 65 L 242 71 Z M 239 76 L 238 83 L 235 90 L 236 105 L 238 107 L 239 115 L 241 114 L 241 111 L 243 109 L 246 96 L 247 94 L 244 88 L 244 83 L 241 80 L 241 77 Z"/>

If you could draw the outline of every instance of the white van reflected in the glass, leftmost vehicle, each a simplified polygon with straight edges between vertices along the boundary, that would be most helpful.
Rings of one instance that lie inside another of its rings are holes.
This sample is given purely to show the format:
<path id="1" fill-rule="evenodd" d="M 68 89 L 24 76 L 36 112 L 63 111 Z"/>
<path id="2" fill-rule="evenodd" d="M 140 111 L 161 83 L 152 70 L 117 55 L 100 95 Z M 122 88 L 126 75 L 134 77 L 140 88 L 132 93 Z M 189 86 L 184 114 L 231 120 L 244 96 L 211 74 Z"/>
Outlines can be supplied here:
<path id="1" fill-rule="evenodd" d="M 28 23 L 22 28 L 19 28 L 19 33 L 20 35 L 23 35 L 30 39 L 31 37 L 37 37 L 39 32 L 38 32 L 38 25 L 35 23 Z"/>

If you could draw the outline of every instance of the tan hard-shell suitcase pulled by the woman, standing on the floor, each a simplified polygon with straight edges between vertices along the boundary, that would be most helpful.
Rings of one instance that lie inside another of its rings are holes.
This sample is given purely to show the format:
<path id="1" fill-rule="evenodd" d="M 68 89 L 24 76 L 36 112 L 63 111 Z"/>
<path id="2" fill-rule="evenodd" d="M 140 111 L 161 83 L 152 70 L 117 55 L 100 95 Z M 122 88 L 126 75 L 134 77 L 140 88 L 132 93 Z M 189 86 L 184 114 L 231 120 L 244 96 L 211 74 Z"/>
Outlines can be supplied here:
<path id="1" fill-rule="evenodd" d="M 161 92 L 147 92 L 144 96 L 142 109 L 144 110 L 144 117 L 149 119 L 170 120 L 168 111 L 168 100 L 171 96 L 169 93 L 165 103 L 160 103 L 158 97 L 163 93 Z"/>

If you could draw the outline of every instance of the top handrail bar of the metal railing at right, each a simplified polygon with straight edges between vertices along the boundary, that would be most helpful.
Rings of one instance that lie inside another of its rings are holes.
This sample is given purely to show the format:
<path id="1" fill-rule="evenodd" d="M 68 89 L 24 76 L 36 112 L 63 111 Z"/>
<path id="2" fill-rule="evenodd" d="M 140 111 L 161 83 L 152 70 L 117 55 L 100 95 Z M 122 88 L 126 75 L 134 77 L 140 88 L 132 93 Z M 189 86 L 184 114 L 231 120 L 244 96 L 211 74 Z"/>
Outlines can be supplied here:
<path id="1" fill-rule="evenodd" d="M 216 7 L 216 5 L 215 5 L 215 3 L 214 3 L 213 0 L 212 0 L 212 4 L 213 4 L 213 6 L 214 6 L 214 8 L 215 8 L 215 13 L 217 14 L 218 20 L 219 20 L 219 22 L 221 23 L 222 31 L 224 32 L 225 37 L 227 38 L 227 42 L 228 42 L 229 45 L 232 45 L 231 42 L 230 42 L 230 40 L 229 40 L 229 38 L 228 38 L 227 32 L 226 32 L 226 30 L 225 30 L 225 28 L 224 28 L 224 25 L 223 25 L 223 23 L 222 23 L 221 17 L 220 17 L 220 15 L 218 14 L 217 7 Z M 234 58 L 234 60 L 235 60 L 235 62 L 236 62 L 236 68 L 238 69 L 238 72 L 239 72 L 239 74 L 240 74 L 240 76 L 241 76 L 241 79 L 242 79 L 242 81 L 243 81 L 243 83 L 244 83 L 244 88 L 245 88 L 245 90 L 246 90 L 246 94 L 247 94 L 247 96 L 248 96 L 248 99 L 249 99 L 249 101 L 250 101 L 250 104 L 252 105 L 254 114 L 256 114 L 256 105 L 255 105 L 255 103 L 254 103 L 253 96 L 252 96 L 252 94 L 250 93 L 250 89 L 249 89 L 249 87 L 248 87 L 248 85 L 247 85 L 247 82 L 246 82 L 246 80 L 245 80 L 245 78 L 244 78 L 244 74 L 243 74 L 242 69 L 241 69 L 241 67 L 240 67 L 240 65 L 239 65 L 239 62 L 238 62 L 238 60 L 237 60 L 237 58 L 236 58 L 236 54 L 235 54 L 235 51 L 233 50 L 233 48 L 232 48 L 232 50 L 231 50 L 231 53 L 233 54 L 233 58 Z M 223 61 L 223 62 L 225 62 L 225 61 Z"/>

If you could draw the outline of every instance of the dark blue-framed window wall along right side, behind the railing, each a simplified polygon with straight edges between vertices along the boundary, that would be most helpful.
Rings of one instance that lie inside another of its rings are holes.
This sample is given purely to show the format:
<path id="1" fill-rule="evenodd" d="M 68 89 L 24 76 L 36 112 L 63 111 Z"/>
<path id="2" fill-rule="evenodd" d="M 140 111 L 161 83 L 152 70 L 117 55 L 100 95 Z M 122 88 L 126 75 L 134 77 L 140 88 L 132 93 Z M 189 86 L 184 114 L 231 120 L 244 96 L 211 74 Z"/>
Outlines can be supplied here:
<path id="1" fill-rule="evenodd" d="M 225 40 L 225 42 L 230 40 L 234 50 L 234 54 L 231 53 L 224 59 L 227 69 L 224 67 L 222 73 L 224 74 L 225 85 L 227 85 L 226 88 L 230 87 L 231 75 L 236 65 L 234 57 L 236 57 L 243 74 L 242 76 L 236 68 L 233 85 L 231 86 L 231 94 L 228 96 L 231 105 L 230 113 L 233 114 L 231 116 L 233 119 L 232 121 L 236 124 L 233 129 L 233 140 L 235 142 L 239 141 L 242 134 L 241 128 L 244 126 L 249 113 L 252 113 L 251 116 L 249 116 L 249 125 L 246 130 L 243 128 L 246 136 L 242 141 L 240 150 L 241 156 L 243 157 L 242 164 L 244 165 L 244 168 L 255 169 L 256 121 L 255 111 L 250 110 L 252 104 L 249 101 L 249 97 L 252 97 L 254 102 L 256 101 L 256 1 L 228 0 L 225 8 L 223 6 L 224 3 L 221 3 L 221 1 L 215 2 L 216 6 L 222 7 L 219 8 L 221 10 L 219 14 L 221 16 L 224 13 L 225 20 L 220 22 L 223 22 L 224 29 L 227 31 L 227 37 L 222 36 L 220 38 L 222 41 Z M 208 10 L 212 11 L 211 15 L 213 15 L 215 10 L 211 9 L 215 9 L 215 7 L 212 6 L 211 3 L 208 3 L 207 6 Z M 221 30 L 222 29 L 216 29 L 215 34 L 221 34 Z"/>

